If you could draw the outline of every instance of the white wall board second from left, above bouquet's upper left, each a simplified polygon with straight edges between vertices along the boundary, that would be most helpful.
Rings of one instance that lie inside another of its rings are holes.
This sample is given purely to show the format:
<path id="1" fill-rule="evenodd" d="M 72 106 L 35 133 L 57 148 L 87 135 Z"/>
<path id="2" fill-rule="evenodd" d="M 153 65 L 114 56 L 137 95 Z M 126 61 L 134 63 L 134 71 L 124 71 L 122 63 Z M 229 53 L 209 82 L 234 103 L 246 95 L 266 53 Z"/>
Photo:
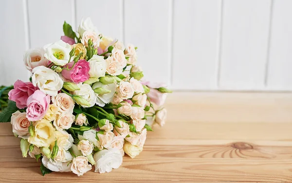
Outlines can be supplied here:
<path id="1" fill-rule="evenodd" d="M 73 3 L 73 0 L 28 0 L 32 48 L 56 42 L 64 35 L 64 21 L 74 23 Z"/>

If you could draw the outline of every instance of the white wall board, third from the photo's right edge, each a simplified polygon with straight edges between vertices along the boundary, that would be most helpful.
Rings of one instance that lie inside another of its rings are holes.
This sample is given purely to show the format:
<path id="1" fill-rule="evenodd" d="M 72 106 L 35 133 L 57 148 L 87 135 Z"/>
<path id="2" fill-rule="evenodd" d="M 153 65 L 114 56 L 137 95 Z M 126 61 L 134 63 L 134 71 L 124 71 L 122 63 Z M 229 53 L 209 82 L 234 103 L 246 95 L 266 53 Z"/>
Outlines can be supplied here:
<path id="1" fill-rule="evenodd" d="M 175 0 L 172 88 L 216 89 L 220 0 Z"/>

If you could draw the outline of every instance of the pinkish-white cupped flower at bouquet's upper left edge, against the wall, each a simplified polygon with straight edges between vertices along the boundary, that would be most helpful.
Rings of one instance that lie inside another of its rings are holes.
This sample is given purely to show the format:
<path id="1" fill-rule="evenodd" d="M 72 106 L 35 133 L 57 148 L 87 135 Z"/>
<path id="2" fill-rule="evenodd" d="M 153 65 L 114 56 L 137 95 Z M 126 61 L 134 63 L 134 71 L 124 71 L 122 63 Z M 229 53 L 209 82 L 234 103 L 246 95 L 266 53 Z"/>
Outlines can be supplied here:
<path id="1" fill-rule="evenodd" d="M 26 69 L 30 72 L 37 66 L 46 66 L 49 63 L 49 60 L 44 57 L 45 50 L 43 48 L 33 48 L 29 49 L 23 55 L 23 61 Z"/>

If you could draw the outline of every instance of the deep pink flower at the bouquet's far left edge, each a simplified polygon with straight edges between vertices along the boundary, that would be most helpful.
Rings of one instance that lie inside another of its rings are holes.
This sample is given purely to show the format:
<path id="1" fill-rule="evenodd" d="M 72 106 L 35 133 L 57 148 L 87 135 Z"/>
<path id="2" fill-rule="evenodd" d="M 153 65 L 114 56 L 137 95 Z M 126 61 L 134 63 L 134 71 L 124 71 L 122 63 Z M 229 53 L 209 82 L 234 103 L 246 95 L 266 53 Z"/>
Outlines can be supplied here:
<path id="1" fill-rule="evenodd" d="M 8 99 L 16 102 L 18 109 L 23 109 L 27 107 L 27 98 L 31 96 L 36 90 L 38 90 L 38 88 L 34 87 L 32 82 L 25 83 L 21 80 L 17 80 L 14 83 L 14 89 L 8 93 Z"/>

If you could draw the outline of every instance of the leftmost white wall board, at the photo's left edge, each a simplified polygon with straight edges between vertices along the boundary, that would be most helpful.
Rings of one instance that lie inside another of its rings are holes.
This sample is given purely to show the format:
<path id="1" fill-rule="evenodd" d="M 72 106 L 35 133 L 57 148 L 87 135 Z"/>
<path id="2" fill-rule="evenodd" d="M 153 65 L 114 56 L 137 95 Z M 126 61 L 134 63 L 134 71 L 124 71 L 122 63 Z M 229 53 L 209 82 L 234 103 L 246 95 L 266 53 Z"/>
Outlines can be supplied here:
<path id="1" fill-rule="evenodd" d="M 28 81 L 22 59 L 26 50 L 24 3 L 24 0 L 1 1 L 0 85 L 12 85 L 17 79 Z"/>

